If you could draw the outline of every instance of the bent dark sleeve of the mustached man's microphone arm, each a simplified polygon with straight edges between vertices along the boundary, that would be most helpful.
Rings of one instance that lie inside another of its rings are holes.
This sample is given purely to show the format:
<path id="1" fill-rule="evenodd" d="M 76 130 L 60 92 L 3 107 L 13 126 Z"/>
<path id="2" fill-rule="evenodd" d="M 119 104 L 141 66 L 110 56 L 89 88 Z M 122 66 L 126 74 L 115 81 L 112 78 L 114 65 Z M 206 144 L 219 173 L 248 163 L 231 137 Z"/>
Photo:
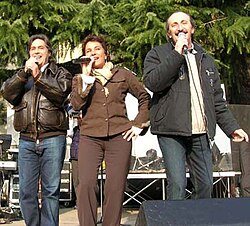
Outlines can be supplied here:
<path id="1" fill-rule="evenodd" d="M 152 92 L 162 92 L 178 78 L 184 56 L 166 46 L 158 46 L 148 52 L 144 60 L 144 84 Z"/>

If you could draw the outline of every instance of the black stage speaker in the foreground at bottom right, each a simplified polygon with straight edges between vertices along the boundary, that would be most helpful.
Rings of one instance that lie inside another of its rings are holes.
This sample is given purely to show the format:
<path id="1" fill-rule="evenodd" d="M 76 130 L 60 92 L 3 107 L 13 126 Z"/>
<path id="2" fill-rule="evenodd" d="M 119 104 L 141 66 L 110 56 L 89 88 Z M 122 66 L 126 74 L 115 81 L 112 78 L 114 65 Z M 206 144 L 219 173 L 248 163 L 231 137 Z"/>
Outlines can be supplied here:
<path id="1" fill-rule="evenodd" d="M 249 226 L 250 198 L 142 203 L 135 226 Z"/>

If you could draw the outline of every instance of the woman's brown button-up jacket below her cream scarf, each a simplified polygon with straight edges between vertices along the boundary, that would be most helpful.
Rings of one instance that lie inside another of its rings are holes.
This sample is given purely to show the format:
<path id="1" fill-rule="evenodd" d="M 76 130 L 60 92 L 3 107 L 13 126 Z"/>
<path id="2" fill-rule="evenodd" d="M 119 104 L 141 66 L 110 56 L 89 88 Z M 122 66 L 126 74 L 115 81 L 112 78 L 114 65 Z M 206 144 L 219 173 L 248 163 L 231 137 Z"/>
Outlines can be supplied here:
<path id="1" fill-rule="evenodd" d="M 82 78 L 76 75 L 72 82 L 71 104 L 82 110 L 81 134 L 107 137 L 122 133 L 132 126 L 148 127 L 150 95 L 135 75 L 124 68 L 112 70 L 113 76 L 103 86 L 98 79 L 82 91 Z M 108 94 L 105 95 L 105 89 Z M 138 99 L 138 114 L 129 120 L 125 97 L 130 93 Z"/>

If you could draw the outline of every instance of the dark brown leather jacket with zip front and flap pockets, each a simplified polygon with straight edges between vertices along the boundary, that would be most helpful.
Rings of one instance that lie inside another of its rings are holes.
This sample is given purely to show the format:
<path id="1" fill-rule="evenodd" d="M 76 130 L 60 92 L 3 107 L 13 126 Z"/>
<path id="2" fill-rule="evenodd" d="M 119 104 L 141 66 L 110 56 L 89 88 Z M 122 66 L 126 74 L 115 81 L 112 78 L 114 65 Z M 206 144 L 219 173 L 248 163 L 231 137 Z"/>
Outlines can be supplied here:
<path id="1" fill-rule="evenodd" d="M 14 128 L 29 140 L 67 133 L 64 109 L 71 92 L 72 75 L 55 62 L 34 79 L 20 69 L 1 88 L 3 97 L 13 105 Z"/>

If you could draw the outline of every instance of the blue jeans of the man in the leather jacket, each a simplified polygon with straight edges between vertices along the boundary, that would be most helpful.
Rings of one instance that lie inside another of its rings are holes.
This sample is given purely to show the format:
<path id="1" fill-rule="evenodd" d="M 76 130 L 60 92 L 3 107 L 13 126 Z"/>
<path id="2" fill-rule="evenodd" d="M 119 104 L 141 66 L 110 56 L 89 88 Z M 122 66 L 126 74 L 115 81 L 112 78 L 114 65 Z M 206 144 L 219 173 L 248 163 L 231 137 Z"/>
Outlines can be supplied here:
<path id="1" fill-rule="evenodd" d="M 66 150 L 64 135 L 40 143 L 19 140 L 19 200 L 27 226 L 58 226 L 61 170 Z M 42 203 L 38 190 L 41 177 Z"/>

